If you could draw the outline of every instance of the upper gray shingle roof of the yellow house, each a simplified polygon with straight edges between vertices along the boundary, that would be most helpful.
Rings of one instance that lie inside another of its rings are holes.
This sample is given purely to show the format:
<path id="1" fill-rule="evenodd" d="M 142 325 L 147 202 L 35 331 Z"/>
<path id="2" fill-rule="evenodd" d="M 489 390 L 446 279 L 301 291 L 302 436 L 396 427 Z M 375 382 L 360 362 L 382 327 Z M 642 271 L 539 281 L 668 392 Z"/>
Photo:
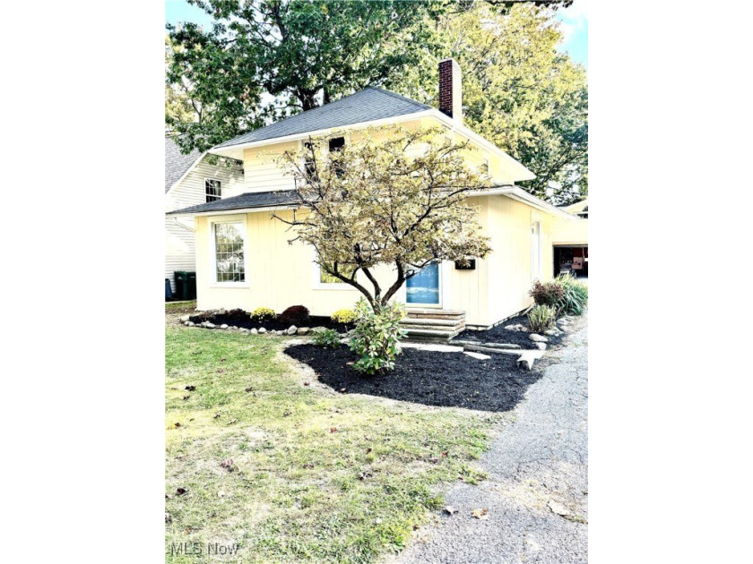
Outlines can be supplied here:
<path id="1" fill-rule="evenodd" d="M 360 124 L 396 115 L 414 114 L 427 109 L 431 109 L 431 107 L 394 92 L 369 86 L 351 94 L 351 96 L 340 98 L 325 106 L 291 115 L 274 124 L 225 141 L 217 145 L 215 149 L 253 141 L 266 141 L 286 135 L 314 132 L 320 129 L 342 127 L 343 125 Z"/>

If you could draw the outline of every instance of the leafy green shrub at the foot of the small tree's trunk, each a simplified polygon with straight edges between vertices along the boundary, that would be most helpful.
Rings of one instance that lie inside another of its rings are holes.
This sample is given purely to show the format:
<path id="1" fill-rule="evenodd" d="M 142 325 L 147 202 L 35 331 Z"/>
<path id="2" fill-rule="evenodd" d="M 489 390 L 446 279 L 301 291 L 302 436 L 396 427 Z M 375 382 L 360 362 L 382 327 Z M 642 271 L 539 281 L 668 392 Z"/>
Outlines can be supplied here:
<path id="1" fill-rule="evenodd" d="M 361 298 L 356 303 L 355 313 L 351 351 L 360 358 L 353 368 L 367 374 L 393 370 L 394 359 L 400 353 L 397 343 L 405 336 L 405 331 L 400 329 L 400 321 L 405 316 L 402 305 L 377 305 L 375 311 Z"/>

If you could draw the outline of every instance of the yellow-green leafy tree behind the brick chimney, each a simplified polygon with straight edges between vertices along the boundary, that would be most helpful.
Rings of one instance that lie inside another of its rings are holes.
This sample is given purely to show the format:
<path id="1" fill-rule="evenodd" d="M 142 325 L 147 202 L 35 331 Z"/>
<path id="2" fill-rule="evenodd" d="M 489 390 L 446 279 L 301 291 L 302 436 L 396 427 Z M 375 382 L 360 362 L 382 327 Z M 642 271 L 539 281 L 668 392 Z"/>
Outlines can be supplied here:
<path id="1" fill-rule="evenodd" d="M 537 176 L 522 183 L 555 203 L 587 191 L 588 85 L 584 68 L 558 52 L 550 7 L 473 3 L 437 23 L 442 47 L 394 88 L 437 105 L 437 64 L 463 70 L 463 120 Z M 581 195 L 582 197 L 582 195 Z"/>

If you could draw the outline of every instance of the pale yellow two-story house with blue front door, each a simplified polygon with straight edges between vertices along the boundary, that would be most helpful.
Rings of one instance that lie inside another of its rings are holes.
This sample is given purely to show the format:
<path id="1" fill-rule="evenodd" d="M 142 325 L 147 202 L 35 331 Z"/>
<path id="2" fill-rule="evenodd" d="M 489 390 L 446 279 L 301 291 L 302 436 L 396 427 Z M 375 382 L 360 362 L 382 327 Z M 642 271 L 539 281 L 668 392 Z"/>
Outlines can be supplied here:
<path id="1" fill-rule="evenodd" d="M 472 269 L 444 261 L 411 278 L 396 295 L 416 320 L 409 329 L 418 335 L 428 328 L 423 332 L 440 336 L 465 324 L 488 328 L 531 305 L 532 281 L 553 276 L 553 219 L 572 216 L 515 185 L 532 179 L 531 171 L 463 125 L 459 66 L 447 59 L 439 70 L 439 109 L 368 87 L 212 148 L 243 161 L 243 193 L 169 214 L 195 218 L 198 309 L 266 306 L 281 312 L 303 304 L 312 315 L 328 316 L 352 307 L 359 292 L 322 273 L 313 249 L 288 244 L 288 226 L 272 218 L 292 218 L 297 207 L 294 179 L 273 161 L 285 150 L 298 150 L 309 136 L 344 132 L 330 140 L 342 144 L 359 139 L 366 127 L 393 124 L 439 126 L 451 140 L 470 141 L 478 154 L 469 156 L 469 164 L 488 170 L 495 184 L 469 199 L 493 252 Z M 376 278 L 386 283 L 393 275 L 385 266 Z"/>

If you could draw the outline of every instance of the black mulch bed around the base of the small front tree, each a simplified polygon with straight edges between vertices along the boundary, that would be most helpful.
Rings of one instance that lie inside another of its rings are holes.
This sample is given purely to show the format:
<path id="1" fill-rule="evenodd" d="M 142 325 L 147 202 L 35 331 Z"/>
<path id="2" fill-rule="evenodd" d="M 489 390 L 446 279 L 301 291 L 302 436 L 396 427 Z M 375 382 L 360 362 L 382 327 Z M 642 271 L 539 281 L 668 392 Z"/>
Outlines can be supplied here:
<path id="1" fill-rule="evenodd" d="M 319 381 L 342 393 L 390 397 L 426 406 L 509 411 L 541 378 L 541 372 L 517 368 L 515 355 L 479 360 L 463 353 L 406 348 L 394 372 L 364 376 L 348 364 L 357 356 L 347 346 L 289 346 L 285 353 L 311 366 Z"/>

